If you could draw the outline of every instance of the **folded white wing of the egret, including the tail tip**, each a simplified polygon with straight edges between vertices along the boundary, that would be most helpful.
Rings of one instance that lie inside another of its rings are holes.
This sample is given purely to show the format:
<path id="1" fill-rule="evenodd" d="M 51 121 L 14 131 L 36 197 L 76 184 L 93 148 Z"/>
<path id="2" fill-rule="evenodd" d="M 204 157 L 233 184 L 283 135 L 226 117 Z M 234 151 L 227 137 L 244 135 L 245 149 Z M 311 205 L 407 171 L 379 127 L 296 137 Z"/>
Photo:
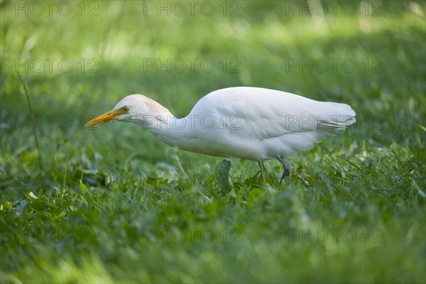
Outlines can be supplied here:
<path id="1" fill-rule="evenodd" d="M 347 104 L 317 102 L 256 87 L 234 87 L 207 94 L 190 115 L 219 117 L 228 131 L 227 137 L 261 142 L 271 149 L 282 144 L 278 149 L 281 153 L 312 148 L 327 130 L 346 129 L 355 122 L 355 111 Z"/>

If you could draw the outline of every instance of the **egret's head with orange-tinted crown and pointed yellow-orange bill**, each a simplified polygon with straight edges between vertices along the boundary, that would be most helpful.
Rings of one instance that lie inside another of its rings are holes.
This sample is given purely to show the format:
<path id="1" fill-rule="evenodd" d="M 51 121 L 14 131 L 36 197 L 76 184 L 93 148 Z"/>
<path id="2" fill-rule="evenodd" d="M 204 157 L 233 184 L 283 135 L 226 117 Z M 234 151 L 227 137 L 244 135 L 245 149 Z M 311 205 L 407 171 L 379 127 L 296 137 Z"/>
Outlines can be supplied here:
<path id="1" fill-rule="evenodd" d="M 158 102 L 155 102 L 153 99 L 141 94 L 131 94 L 130 96 L 121 99 L 114 109 L 97 116 L 97 118 L 87 122 L 85 126 L 102 124 L 103 122 L 108 121 L 129 121 L 141 123 L 144 116 L 157 114 L 170 114 L 170 111 L 158 104 Z"/>

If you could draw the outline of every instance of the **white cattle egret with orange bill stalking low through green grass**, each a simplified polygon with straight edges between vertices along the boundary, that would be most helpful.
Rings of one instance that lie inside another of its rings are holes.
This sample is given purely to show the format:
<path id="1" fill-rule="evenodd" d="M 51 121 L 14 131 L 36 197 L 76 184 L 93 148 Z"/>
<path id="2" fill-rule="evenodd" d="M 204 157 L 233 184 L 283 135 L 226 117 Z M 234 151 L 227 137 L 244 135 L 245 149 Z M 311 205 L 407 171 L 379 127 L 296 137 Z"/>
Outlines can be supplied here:
<path id="1" fill-rule="evenodd" d="M 262 175 L 263 160 L 276 158 L 284 166 L 283 180 L 291 171 L 283 155 L 312 148 L 330 129 L 346 129 L 354 124 L 355 111 L 347 104 L 273 89 L 231 87 L 207 94 L 183 118 L 153 99 L 131 94 L 85 126 L 107 121 L 140 124 L 185 151 L 257 161 Z"/>

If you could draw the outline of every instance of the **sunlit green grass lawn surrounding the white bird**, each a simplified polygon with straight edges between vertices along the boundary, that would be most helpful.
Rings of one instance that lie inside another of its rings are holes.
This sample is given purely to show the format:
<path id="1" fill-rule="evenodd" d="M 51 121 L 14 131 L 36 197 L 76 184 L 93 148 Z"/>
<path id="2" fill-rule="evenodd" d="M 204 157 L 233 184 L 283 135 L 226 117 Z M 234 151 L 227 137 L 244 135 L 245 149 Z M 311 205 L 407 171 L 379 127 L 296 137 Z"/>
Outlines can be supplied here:
<path id="1" fill-rule="evenodd" d="M 367 2 L 381 16 L 359 1 L 353 16 L 340 5 L 312 17 L 286 6 L 305 1 L 227 2 L 225 16 L 222 1 L 209 2 L 212 16 L 143 9 L 157 1 L 25 16 L 1 1 L 0 281 L 425 283 L 425 2 Z M 168 58 L 215 67 L 146 66 Z M 322 59 L 324 72 L 288 65 Z M 288 157 L 283 184 L 277 161 L 264 183 L 256 163 L 230 159 L 229 188 L 217 183 L 222 158 L 176 151 L 132 124 L 83 127 L 127 94 L 186 115 L 238 85 L 345 102 L 357 122 Z"/>

